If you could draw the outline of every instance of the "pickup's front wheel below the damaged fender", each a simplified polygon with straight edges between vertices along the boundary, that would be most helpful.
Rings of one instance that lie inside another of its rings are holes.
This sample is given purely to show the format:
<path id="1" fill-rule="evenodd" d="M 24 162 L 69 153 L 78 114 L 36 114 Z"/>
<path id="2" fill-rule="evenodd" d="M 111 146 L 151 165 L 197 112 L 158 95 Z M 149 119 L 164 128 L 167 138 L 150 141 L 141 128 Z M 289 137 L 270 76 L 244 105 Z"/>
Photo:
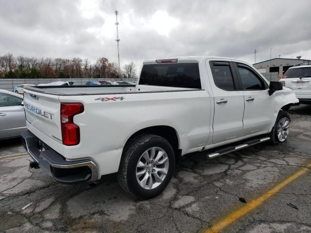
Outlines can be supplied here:
<path id="1" fill-rule="evenodd" d="M 288 124 L 285 124 L 285 126 L 283 125 L 284 124 L 284 118 L 285 118 L 285 122 L 288 120 Z M 282 142 L 286 141 L 289 130 L 290 130 L 290 128 L 289 128 L 290 122 L 291 122 L 291 117 L 288 114 L 288 112 L 280 110 L 277 117 L 276 117 L 276 123 L 275 123 L 271 133 L 269 133 L 269 136 L 271 138 L 271 142 L 273 144 L 282 143 Z M 285 131 L 285 127 L 287 127 L 288 130 Z M 284 134 L 284 137 L 282 137 L 281 139 L 279 138 L 278 131 L 283 132 L 283 133 L 281 133 L 281 135 Z"/>

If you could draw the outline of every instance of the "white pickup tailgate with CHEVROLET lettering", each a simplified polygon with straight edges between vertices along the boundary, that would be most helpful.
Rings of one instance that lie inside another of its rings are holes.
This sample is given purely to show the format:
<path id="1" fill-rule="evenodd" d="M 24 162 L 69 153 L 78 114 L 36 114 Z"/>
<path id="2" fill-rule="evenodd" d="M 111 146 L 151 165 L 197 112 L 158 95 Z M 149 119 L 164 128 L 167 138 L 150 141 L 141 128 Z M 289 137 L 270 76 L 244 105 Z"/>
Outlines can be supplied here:
<path id="1" fill-rule="evenodd" d="M 24 108 L 26 120 L 31 124 L 31 128 L 35 128 L 36 131 L 62 143 L 60 102 L 57 95 L 25 90 Z"/>

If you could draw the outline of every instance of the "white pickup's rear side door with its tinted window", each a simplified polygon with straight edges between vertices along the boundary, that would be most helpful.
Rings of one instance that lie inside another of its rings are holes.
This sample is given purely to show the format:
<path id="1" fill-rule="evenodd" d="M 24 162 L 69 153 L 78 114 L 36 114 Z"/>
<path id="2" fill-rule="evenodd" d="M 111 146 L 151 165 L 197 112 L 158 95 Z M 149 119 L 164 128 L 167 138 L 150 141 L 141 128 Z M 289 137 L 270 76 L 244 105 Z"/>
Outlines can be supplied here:
<path id="1" fill-rule="evenodd" d="M 240 136 L 243 128 L 244 100 L 231 62 L 210 61 L 214 96 L 213 143 Z"/>

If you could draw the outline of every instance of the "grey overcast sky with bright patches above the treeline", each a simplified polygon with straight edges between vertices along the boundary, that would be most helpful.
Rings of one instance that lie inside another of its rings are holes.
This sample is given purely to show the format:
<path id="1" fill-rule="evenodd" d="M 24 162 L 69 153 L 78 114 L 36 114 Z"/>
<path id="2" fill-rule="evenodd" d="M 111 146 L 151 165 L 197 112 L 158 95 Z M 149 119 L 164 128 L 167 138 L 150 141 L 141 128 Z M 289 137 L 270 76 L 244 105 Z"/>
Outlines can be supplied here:
<path id="1" fill-rule="evenodd" d="M 215 55 L 311 59 L 311 0 L 0 0 L 0 55 L 143 59 Z"/>

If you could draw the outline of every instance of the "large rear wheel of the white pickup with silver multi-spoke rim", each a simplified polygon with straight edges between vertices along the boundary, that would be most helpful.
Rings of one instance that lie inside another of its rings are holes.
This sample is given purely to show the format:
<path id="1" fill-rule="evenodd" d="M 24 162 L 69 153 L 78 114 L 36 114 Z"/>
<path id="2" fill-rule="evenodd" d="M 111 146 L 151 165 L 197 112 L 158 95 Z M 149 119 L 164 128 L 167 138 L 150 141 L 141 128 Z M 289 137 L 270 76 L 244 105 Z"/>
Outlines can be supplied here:
<path id="1" fill-rule="evenodd" d="M 152 154 L 154 154 L 153 159 Z M 152 160 L 145 160 L 147 156 Z M 161 157 L 157 158 L 158 156 Z M 171 144 L 163 137 L 142 134 L 124 148 L 117 178 L 125 192 L 141 200 L 150 199 L 161 193 L 168 185 L 174 167 L 175 155 Z M 167 174 L 162 171 L 166 171 Z"/>

